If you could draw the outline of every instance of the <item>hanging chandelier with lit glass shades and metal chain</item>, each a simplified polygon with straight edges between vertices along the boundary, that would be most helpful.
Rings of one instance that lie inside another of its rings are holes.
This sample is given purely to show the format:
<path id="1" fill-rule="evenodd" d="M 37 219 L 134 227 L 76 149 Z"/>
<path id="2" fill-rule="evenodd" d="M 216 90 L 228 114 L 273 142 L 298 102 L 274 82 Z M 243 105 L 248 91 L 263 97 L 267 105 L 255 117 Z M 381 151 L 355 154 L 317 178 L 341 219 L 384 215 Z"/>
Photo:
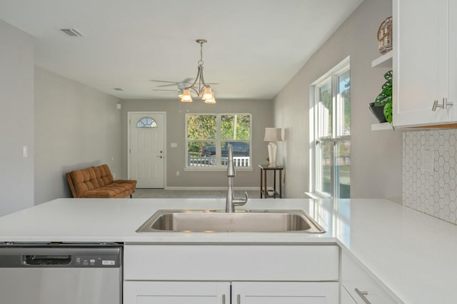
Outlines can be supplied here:
<path id="1" fill-rule="evenodd" d="M 200 60 L 198 62 L 198 71 L 194 83 L 190 86 L 184 88 L 183 93 L 179 95 L 182 102 L 192 102 L 191 91 L 194 91 L 201 100 L 205 103 L 216 103 L 216 98 L 214 98 L 214 91 L 209 85 L 205 83 L 203 77 L 203 44 L 206 44 L 205 39 L 197 39 L 196 43 L 200 44 Z"/>

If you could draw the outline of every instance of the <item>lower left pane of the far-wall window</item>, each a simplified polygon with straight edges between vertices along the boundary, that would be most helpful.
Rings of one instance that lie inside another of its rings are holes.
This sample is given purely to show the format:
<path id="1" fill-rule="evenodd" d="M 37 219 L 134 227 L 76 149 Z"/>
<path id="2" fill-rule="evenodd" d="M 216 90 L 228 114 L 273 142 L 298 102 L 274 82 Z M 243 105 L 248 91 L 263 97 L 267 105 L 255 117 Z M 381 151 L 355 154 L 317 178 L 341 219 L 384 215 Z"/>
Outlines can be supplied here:
<path id="1" fill-rule="evenodd" d="M 216 166 L 216 143 L 214 141 L 189 141 L 187 151 L 187 166 Z"/>

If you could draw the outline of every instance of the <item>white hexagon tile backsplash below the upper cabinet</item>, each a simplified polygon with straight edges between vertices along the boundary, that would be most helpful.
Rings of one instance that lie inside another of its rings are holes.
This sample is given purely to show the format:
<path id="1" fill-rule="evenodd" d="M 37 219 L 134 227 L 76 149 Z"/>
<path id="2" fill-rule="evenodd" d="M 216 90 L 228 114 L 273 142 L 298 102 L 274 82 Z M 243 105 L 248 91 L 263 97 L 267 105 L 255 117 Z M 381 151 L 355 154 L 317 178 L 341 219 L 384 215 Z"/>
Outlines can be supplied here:
<path id="1" fill-rule="evenodd" d="M 457 224 L 457 130 L 403 132 L 403 205 Z"/>

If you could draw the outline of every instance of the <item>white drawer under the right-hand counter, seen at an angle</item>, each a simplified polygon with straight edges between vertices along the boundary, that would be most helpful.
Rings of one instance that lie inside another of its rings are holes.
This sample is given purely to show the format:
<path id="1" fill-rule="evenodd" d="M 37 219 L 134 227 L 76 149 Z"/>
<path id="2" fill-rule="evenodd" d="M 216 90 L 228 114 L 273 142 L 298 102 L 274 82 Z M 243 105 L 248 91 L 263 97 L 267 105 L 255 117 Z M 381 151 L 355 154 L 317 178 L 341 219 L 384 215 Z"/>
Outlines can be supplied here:
<path id="1" fill-rule="evenodd" d="M 341 253 L 341 284 L 358 304 L 368 303 L 363 296 L 371 304 L 403 303 L 345 251 Z M 367 294 L 359 295 L 356 290 Z"/>

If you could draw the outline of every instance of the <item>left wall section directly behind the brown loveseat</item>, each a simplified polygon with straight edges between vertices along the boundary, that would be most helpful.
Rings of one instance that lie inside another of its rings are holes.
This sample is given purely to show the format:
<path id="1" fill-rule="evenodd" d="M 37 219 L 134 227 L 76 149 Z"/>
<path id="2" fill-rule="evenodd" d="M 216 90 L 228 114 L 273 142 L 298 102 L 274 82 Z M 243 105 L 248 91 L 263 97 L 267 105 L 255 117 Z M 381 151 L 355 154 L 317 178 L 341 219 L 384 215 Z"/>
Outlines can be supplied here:
<path id="1" fill-rule="evenodd" d="M 71 197 L 64 174 L 107 163 L 121 176 L 120 100 L 35 69 L 35 203 Z"/>

